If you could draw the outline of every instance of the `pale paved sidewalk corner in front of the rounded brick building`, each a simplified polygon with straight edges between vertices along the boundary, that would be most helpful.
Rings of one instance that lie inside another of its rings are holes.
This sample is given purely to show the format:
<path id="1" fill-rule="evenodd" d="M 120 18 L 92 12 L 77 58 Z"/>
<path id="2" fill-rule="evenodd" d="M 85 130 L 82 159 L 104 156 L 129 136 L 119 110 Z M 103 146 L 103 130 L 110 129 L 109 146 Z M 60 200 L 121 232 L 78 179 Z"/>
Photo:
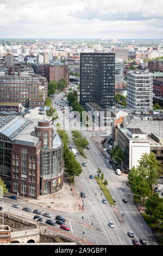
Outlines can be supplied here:
<path id="1" fill-rule="evenodd" d="M 50 209 L 62 212 L 76 213 L 85 211 L 85 208 L 82 209 L 82 206 L 79 204 L 79 196 L 77 196 L 67 173 L 64 173 L 64 186 L 58 192 L 39 196 L 37 200 L 20 196 L 17 201 L 27 202 L 45 209 L 49 209 L 47 206 L 51 205 Z M 79 205 L 81 209 L 79 209 Z"/>

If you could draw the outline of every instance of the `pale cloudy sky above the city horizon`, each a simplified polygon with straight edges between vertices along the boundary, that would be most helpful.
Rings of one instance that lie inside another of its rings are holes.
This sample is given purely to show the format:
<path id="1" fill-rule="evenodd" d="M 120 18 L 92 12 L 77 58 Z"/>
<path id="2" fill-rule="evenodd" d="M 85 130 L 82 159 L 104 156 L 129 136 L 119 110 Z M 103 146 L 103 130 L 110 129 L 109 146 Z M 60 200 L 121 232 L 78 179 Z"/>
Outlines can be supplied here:
<path id="1" fill-rule="evenodd" d="M 162 39 L 162 0 L 0 0 L 0 38 Z"/>

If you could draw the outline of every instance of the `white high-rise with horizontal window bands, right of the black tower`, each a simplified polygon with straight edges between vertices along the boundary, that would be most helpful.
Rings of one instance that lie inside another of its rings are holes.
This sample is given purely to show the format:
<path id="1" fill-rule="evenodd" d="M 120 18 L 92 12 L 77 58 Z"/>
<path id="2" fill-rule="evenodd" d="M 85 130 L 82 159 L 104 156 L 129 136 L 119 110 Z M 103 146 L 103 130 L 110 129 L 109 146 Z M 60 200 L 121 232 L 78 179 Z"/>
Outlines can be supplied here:
<path id="1" fill-rule="evenodd" d="M 143 71 L 127 72 L 127 107 L 151 109 L 153 106 L 153 74 Z"/>

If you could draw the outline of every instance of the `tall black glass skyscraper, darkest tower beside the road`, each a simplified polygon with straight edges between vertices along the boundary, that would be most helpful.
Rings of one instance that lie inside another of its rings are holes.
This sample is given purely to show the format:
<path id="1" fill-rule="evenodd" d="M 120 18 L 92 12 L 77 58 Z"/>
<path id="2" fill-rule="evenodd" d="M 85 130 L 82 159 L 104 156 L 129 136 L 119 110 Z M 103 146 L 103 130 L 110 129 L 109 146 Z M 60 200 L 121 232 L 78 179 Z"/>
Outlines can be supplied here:
<path id="1" fill-rule="evenodd" d="M 115 105 L 115 53 L 80 53 L 80 104 Z"/>

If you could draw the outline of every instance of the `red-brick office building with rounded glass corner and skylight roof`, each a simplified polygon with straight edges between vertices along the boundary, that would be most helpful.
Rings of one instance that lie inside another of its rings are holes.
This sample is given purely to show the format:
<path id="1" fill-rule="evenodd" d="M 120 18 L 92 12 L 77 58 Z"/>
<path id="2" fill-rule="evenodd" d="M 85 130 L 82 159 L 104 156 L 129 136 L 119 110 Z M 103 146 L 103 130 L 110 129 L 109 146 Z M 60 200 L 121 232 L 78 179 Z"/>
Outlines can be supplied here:
<path id="1" fill-rule="evenodd" d="M 37 110 L 38 111 L 38 110 Z M 0 124 L 0 176 L 10 193 L 37 199 L 63 186 L 63 143 L 52 118 L 6 116 Z"/>

